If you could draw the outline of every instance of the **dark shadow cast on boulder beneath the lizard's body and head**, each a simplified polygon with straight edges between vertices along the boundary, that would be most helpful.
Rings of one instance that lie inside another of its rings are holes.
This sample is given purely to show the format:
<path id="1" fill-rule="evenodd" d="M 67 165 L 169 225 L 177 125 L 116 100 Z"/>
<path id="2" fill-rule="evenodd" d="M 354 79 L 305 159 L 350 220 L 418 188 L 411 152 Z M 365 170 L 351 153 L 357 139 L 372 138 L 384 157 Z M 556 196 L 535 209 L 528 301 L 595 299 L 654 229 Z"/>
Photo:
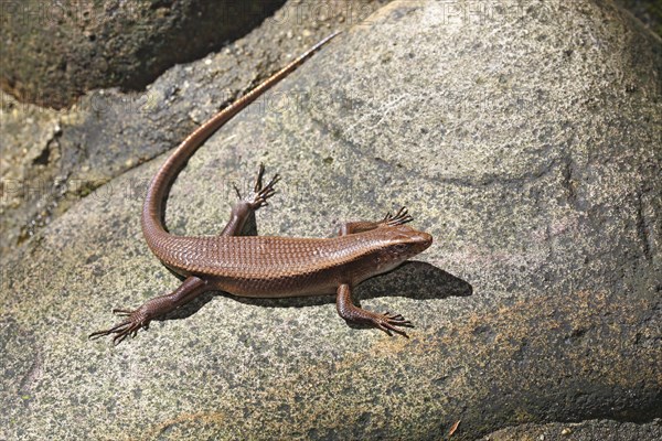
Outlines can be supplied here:
<path id="1" fill-rule="evenodd" d="M 471 284 L 434 265 L 412 260 L 385 275 L 373 277 L 359 284 L 353 292 L 354 303 L 360 300 L 383 297 L 406 297 L 410 299 L 446 299 L 448 297 L 468 297 L 473 293 Z M 201 294 L 186 305 L 157 320 L 180 320 L 195 314 L 213 298 L 224 295 L 238 302 L 265 308 L 306 308 L 335 303 L 335 294 L 291 297 L 281 299 L 244 298 L 223 291 L 210 291 Z M 351 324 L 352 327 L 364 327 Z"/>

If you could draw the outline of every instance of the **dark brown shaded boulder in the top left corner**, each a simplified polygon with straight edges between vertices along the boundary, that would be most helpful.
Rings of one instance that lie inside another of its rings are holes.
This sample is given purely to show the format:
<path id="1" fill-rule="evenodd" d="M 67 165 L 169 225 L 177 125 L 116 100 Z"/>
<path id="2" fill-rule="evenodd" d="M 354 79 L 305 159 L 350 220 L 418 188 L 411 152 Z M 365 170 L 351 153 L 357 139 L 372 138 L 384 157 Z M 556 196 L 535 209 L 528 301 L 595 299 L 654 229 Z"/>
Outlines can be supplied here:
<path id="1" fill-rule="evenodd" d="M 2 1 L 0 86 L 41 106 L 141 89 L 175 63 L 217 50 L 285 0 Z"/>

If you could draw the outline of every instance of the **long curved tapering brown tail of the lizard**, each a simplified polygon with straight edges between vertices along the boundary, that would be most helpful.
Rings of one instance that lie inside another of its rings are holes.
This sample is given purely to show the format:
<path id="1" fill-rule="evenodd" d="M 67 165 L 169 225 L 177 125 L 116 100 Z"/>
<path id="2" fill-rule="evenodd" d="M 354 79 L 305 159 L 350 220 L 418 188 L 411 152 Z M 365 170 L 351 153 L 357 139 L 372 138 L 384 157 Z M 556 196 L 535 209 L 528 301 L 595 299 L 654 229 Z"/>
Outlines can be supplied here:
<path id="1" fill-rule="evenodd" d="M 340 32 L 335 32 L 324 40 L 317 43 L 314 46 L 306 51 L 295 61 L 289 63 L 287 66 L 265 79 L 261 84 L 255 87 L 253 90 L 244 95 L 242 98 L 234 101 L 228 107 L 224 108 L 216 115 L 214 115 L 211 119 L 200 126 L 195 131 L 186 137 L 182 141 L 181 144 L 172 152 L 172 154 L 166 160 L 163 165 L 159 169 L 154 178 L 151 180 L 149 184 L 149 189 L 147 190 L 147 196 L 145 198 L 145 204 L 142 205 L 142 234 L 149 245 L 149 247 L 154 251 L 154 246 L 158 245 L 160 238 L 164 236 L 169 236 L 166 230 L 166 226 L 163 223 L 164 216 L 164 202 L 170 193 L 170 187 L 172 183 L 177 179 L 177 175 L 186 164 L 189 158 L 195 153 L 195 151 L 204 143 L 204 141 L 212 136 L 216 130 L 218 130 L 225 122 L 232 119 L 235 115 L 237 115 L 242 109 L 244 109 L 247 105 L 253 103 L 257 97 L 259 97 L 263 93 L 268 90 L 270 87 L 276 85 L 282 78 L 288 76 L 292 71 L 299 67 L 306 60 L 308 60 L 314 52 L 317 52 L 320 47 L 327 44 L 331 39 L 338 35 Z"/>

